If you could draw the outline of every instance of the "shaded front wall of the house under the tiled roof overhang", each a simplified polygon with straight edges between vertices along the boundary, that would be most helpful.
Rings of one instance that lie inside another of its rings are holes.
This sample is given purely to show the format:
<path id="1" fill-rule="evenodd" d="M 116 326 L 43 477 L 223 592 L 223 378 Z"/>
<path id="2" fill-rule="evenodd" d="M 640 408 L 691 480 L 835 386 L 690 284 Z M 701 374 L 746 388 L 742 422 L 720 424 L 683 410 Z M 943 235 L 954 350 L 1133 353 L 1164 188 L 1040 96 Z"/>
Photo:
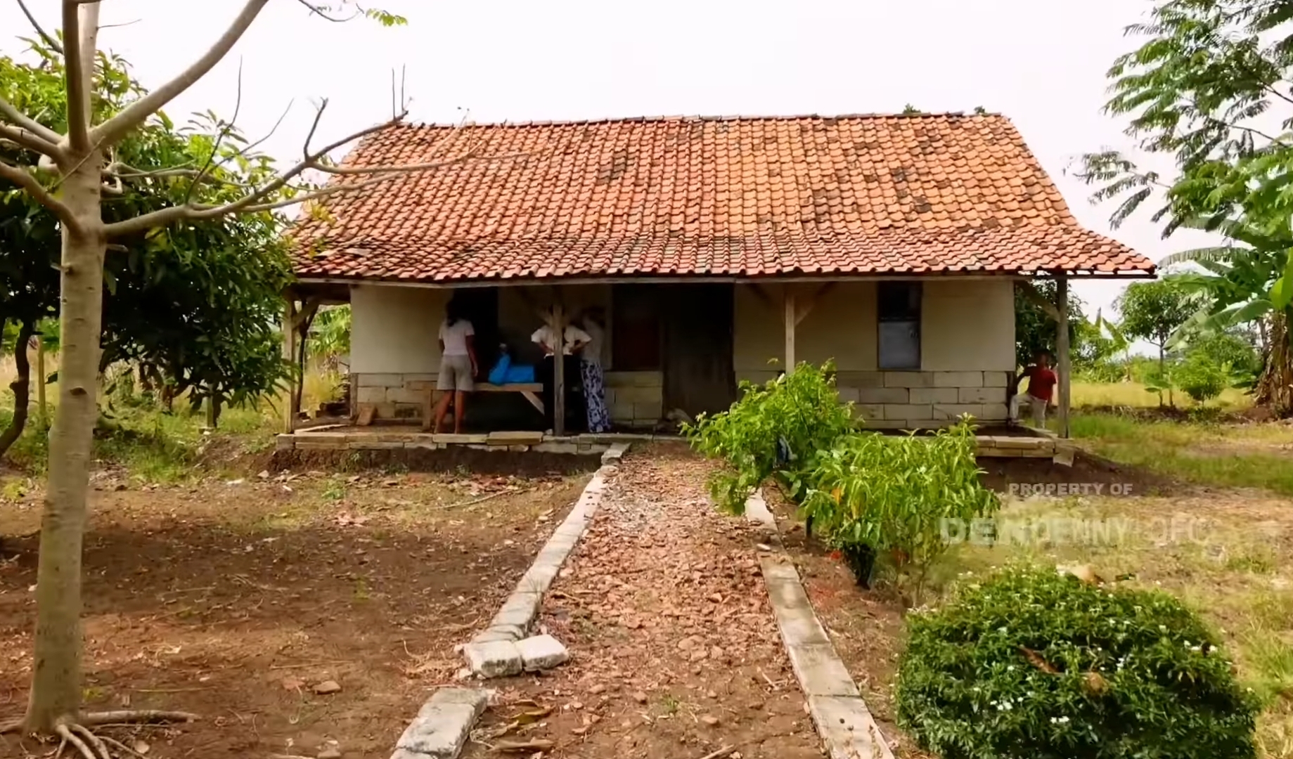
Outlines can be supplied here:
<path id="1" fill-rule="evenodd" d="M 1015 371 L 1016 281 L 1009 275 L 487 284 L 305 279 L 294 292 L 288 318 L 299 327 L 292 340 L 301 353 L 300 341 L 308 335 L 303 315 L 321 303 L 350 304 L 349 419 L 358 428 L 411 427 L 427 419 L 440 369 L 437 330 L 445 305 L 456 297 L 476 330 L 481 375 L 489 372 L 500 345 L 516 363 L 538 363 L 542 350 L 530 335 L 539 326 L 565 325 L 599 306 L 606 322 L 605 401 L 617 432 L 671 432 L 679 420 L 725 409 L 742 380 L 762 383 L 799 361 L 828 359 L 835 363 L 840 397 L 855 403 L 869 427 L 919 429 L 962 414 L 984 424 L 1005 422 Z M 579 378 L 555 381 L 570 387 Z M 553 424 L 546 424 L 539 384 L 478 383 L 477 390 L 468 402 L 472 433 L 566 437 L 582 431 L 578 414 L 557 414 Z M 556 400 L 565 397 L 555 393 Z"/>

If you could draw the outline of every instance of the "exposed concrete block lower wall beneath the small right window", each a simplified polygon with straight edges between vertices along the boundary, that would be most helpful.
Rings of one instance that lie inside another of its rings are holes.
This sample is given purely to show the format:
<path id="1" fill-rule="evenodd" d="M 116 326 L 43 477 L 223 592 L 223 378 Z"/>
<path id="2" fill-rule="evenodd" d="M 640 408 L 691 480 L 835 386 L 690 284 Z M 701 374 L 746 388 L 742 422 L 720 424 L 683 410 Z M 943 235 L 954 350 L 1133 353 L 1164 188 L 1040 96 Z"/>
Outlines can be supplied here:
<path id="1" fill-rule="evenodd" d="M 835 384 L 873 429 L 928 429 L 962 414 L 1005 422 L 1009 379 L 1005 371 L 840 371 Z"/>

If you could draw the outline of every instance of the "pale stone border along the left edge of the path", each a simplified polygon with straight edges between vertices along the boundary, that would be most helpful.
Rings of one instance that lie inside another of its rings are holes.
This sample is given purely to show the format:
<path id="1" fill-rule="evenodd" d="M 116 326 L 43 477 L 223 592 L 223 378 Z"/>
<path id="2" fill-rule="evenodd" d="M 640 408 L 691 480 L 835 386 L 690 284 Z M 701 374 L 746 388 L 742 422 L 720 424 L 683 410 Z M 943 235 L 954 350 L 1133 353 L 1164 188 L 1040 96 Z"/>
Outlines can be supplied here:
<path id="1" fill-rule="evenodd" d="M 539 615 L 543 593 L 552 586 L 561 565 L 583 537 L 592 516 L 601 506 L 606 475 L 614 471 L 628 450 L 627 442 L 615 442 L 601 454 L 601 468 L 592 476 L 574 508 L 556 533 L 534 557 L 530 569 L 521 575 L 516 590 L 494 615 L 490 627 L 467 645 L 468 658 L 473 645 L 508 645 L 524 639 Z M 396 743 L 390 759 L 456 759 L 471 734 L 472 725 L 485 711 L 489 690 L 482 688 L 442 688 L 418 711 Z"/>

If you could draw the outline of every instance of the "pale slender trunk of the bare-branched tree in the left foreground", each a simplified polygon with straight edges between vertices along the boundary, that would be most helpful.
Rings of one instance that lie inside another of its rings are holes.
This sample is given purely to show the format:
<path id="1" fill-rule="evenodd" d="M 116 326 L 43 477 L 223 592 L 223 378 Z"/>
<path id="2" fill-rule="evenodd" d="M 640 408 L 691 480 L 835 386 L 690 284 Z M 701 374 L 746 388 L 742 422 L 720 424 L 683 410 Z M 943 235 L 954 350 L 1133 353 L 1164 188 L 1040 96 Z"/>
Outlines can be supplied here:
<path id="1" fill-rule="evenodd" d="M 52 734 L 80 712 L 81 542 L 91 440 L 98 418 L 96 378 L 103 313 L 106 241 L 100 211 L 102 156 L 92 154 L 63 178 L 62 200 L 83 231 L 63 226 L 58 406 L 49 440 L 49 484 L 36 568 L 36 635 L 31 698 L 23 725 Z"/>

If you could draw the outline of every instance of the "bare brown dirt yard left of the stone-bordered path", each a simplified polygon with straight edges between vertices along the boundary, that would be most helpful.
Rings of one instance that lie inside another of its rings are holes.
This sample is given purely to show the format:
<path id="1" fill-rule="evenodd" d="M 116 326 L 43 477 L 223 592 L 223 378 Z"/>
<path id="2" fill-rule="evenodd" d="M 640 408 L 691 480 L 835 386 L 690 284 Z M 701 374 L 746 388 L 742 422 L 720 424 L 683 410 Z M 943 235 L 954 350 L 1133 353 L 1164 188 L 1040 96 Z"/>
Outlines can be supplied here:
<path id="1" fill-rule="evenodd" d="M 141 489 L 101 475 L 84 700 L 203 718 L 109 732 L 150 759 L 385 759 L 586 481 L 310 472 Z M 32 666 L 40 494 L 18 490 L 0 502 L 0 722 L 22 714 Z M 0 756 L 49 750 L 0 737 Z"/>

